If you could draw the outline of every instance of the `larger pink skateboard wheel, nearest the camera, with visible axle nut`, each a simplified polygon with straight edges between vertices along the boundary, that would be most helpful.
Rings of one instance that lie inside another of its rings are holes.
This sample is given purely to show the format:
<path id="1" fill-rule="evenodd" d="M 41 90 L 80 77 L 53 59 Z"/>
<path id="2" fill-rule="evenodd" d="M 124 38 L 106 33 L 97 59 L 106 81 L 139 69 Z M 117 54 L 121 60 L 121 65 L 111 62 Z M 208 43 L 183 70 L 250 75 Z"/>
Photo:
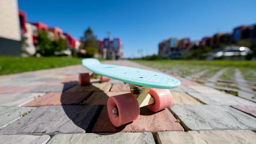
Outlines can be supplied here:
<path id="1" fill-rule="evenodd" d="M 140 106 L 131 93 L 115 95 L 107 100 L 107 113 L 115 127 L 136 120 L 140 115 Z"/>

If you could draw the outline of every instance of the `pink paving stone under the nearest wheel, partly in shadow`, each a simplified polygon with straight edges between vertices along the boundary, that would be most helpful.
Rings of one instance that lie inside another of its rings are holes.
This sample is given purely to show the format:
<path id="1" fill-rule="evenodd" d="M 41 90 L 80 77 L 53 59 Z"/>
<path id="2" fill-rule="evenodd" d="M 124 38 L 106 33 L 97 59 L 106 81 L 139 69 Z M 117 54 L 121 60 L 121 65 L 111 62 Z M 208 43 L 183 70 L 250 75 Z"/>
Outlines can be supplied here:
<path id="1" fill-rule="evenodd" d="M 116 128 L 110 122 L 107 106 L 105 106 L 92 132 L 162 132 L 172 130 L 184 131 L 168 109 L 154 113 L 149 111 L 147 107 L 142 107 L 140 108 L 140 116 L 137 120 Z"/>

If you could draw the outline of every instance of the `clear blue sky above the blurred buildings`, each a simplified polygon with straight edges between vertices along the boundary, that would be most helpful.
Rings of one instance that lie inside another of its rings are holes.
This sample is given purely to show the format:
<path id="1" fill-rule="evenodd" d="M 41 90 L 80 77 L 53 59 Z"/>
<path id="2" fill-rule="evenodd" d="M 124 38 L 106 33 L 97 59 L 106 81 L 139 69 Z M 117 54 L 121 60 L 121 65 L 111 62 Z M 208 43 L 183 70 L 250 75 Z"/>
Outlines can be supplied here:
<path id="1" fill-rule="evenodd" d="M 200 40 L 256 23 L 256 0 L 19 0 L 29 22 L 57 26 L 79 39 L 90 26 L 98 39 L 119 37 L 124 57 L 157 53 L 169 37 Z"/>

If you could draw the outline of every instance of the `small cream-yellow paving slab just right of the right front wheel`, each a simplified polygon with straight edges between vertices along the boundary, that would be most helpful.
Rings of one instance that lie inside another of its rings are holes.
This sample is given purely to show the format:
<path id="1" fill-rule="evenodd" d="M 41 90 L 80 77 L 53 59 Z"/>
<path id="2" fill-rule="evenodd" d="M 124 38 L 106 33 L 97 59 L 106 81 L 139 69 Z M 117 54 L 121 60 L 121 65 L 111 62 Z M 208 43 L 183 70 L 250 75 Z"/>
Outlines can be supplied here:
<path id="1" fill-rule="evenodd" d="M 198 100 L 195 100 L 190 95 L 180 92 L 172 92 L 172 105 L 201 105 Z"/>

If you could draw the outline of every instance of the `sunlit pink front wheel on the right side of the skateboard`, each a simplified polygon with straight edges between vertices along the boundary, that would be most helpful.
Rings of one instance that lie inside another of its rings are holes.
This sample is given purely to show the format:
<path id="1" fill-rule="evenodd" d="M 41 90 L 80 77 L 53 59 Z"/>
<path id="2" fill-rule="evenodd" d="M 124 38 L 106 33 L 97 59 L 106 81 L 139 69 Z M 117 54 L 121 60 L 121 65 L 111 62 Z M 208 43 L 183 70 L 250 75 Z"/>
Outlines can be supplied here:
<path id="1" fill-rule="evenodd" d="M 154 104 L 147 105 L 150 111 L 157 112 L 172 104 L 172 94 L 168 89 L 151 88 L 149 95 L 155 99 Z"/>

